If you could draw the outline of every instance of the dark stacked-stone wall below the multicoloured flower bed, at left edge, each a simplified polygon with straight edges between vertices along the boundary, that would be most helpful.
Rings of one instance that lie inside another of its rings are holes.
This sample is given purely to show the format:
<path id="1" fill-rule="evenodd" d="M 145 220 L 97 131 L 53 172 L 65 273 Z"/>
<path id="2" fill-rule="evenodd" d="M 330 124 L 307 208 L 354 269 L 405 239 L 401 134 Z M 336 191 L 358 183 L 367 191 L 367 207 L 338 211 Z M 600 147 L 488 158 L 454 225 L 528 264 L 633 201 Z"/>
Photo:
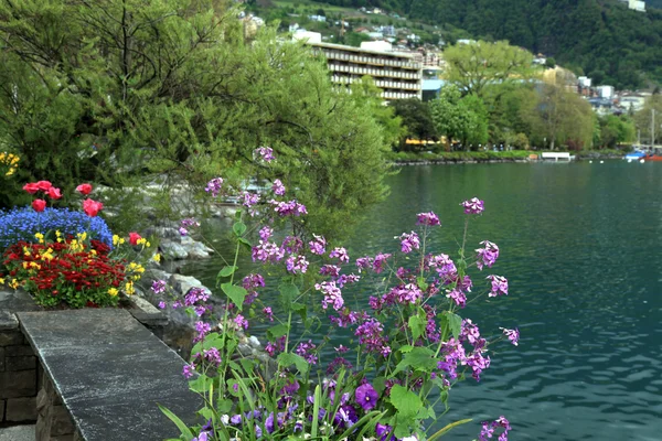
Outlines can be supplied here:
<path id="1" fill-rule="evenodd" d="M 40 370 L 19 321 L 0 311 L 0 426 L 36 421 Z"/>

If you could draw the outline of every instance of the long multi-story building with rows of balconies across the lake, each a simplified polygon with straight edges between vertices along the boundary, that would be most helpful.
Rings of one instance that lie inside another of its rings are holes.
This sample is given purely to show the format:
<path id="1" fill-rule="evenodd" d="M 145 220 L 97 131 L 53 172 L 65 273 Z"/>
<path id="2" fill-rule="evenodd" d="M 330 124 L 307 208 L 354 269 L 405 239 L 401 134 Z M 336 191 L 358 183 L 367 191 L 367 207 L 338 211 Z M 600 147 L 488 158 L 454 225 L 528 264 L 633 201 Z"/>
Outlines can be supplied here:
<path id="1" fill-rule="evenodd" d="M 350 85 L 367 75 L 383 90 L 384 99 L 423 97 L 421 63 L 410 54 L 389 52 L 391 45 L 386 42 L 372 42 L 367 47 L 354 47 L 322 43 L 316 37 L 308 37 L 306 41 L 314 52 L 324 55 L 334 84 Z"/>

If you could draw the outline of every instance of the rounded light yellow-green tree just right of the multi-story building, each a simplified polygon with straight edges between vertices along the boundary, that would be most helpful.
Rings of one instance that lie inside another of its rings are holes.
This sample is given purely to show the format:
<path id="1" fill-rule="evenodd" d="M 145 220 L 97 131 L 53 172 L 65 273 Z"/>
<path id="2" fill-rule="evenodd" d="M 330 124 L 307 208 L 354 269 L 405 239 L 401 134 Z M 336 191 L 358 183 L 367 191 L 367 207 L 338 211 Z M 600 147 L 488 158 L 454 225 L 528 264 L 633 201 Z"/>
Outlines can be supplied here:
<path id="1" fill-rule="evenodd" d="M 444 52 L 444 58 L 448 80 L 463 94 L 479 97 L 489 85 L 527 80 L 535 74 L 533 55 L 502 41 L 456 44 Z"/>

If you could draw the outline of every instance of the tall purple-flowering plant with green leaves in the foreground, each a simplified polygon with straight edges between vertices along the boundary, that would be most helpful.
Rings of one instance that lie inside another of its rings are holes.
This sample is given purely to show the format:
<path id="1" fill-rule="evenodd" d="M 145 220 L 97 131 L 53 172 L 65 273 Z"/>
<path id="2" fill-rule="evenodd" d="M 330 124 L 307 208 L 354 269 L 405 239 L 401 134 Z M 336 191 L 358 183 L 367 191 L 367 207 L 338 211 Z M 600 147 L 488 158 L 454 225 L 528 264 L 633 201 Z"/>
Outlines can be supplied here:
<path id="1" fill-rule="evenodd" d="M 258 153 L 264 161 L 274 160 L 271 152 Z M 207 191 L 217 196 L 222 185 L 223 180 L 216 179 Z M 195 346 L 183 374 L 191 389 L 205 399 L 200 410 L 204 423 L 186 427 L 163 409 L 181 430 L 181 439 L 435 440 L 471 421 L 428 432 L 437 412 L 448 409 L 451 387 L 467 374 L 480 380 L 490 366 L 489 347 L 500 340 L 514 345 L 519 341 L 516 329 L 503 329 L 501 336 L 488 340 L 472 320 L 458 314 L 481 297 L 473 294 L 468 270 L 491 268 L 500 254 L 487 240 L 476 254 L 466 254 L 469 219 L 483 212 L 483 202 L 473 198 L 461 204 L 467 222 L 456 260 L 428 249 L 429 236 L 440 228 L 433 212 L 418 214 L 418 230 L 396 237 L 399 252 L 351 259 L 345 248 L 330 247 L 321 236 L 277 240 L 271 225 L 277 219 L 297 224 L 307 211 L 296 201 L 277 200 L 285 195 L 281 182 L 271 192 L 274 198 L 266 206 L 273 216 L 259 229 L 257 245 L 250 246 L 241 213 L 233 226 L 235 259 L 218 273 L 227 298 L 218 329 L 204 320 L 196 324 Z M 186 227 L 191 226 L 186 219 Z M 266 266 L 267 276 L 254 272 L 236 283 L 237 257 L 244 246 L 250 247 L 255 262 Z M 416 263 L 403 266 L 403 260 Z M 269 275 L 278 267 L 282 276 L 274 280 Z M 362 280 L 374 295 L 365 310 L 353 310 L 344 292 Z M 485 280 L 483 295 L 508 294 L 505 278 L 490 275 Z M 163 289 L 164 282 L 156 284 Z M 279 304 L 263 303 L 260 293 L 275 291 L 276 286 Z M 204 319 L 209 309 L 201 305 L 209 295 L 191 290 L 184 304 Z M 250 316 L 273 324 L 266 332 L 269 357 L 249 356 L 242 346 Z M 327 331 L 322 338 L 316 337 L 320 330 Z M 335 334 L 353 335 L 355 346 L 327 347 Z M 500 417 L 483 423 L 480 439 L 500 432 L 503 441 L 509 430 L 509 421 Z"/>

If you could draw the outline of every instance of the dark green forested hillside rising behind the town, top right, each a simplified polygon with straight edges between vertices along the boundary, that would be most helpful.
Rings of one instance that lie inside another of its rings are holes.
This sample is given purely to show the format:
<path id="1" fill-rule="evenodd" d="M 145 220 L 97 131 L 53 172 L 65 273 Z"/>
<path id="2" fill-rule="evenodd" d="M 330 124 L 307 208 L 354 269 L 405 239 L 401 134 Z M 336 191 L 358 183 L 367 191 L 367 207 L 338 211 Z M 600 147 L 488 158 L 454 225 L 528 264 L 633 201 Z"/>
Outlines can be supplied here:
<path id="1" fill-rule="evenodd" d="M 662 84 L 662 9 L 636 12 L 618 0 L 325 0 L 383 7 L 474 37 L 509 40 L 598 84 Z M 662 3 L 662 0 L 658 0 Z M 661 4 L 662 7 L 662 4 Z"/>

